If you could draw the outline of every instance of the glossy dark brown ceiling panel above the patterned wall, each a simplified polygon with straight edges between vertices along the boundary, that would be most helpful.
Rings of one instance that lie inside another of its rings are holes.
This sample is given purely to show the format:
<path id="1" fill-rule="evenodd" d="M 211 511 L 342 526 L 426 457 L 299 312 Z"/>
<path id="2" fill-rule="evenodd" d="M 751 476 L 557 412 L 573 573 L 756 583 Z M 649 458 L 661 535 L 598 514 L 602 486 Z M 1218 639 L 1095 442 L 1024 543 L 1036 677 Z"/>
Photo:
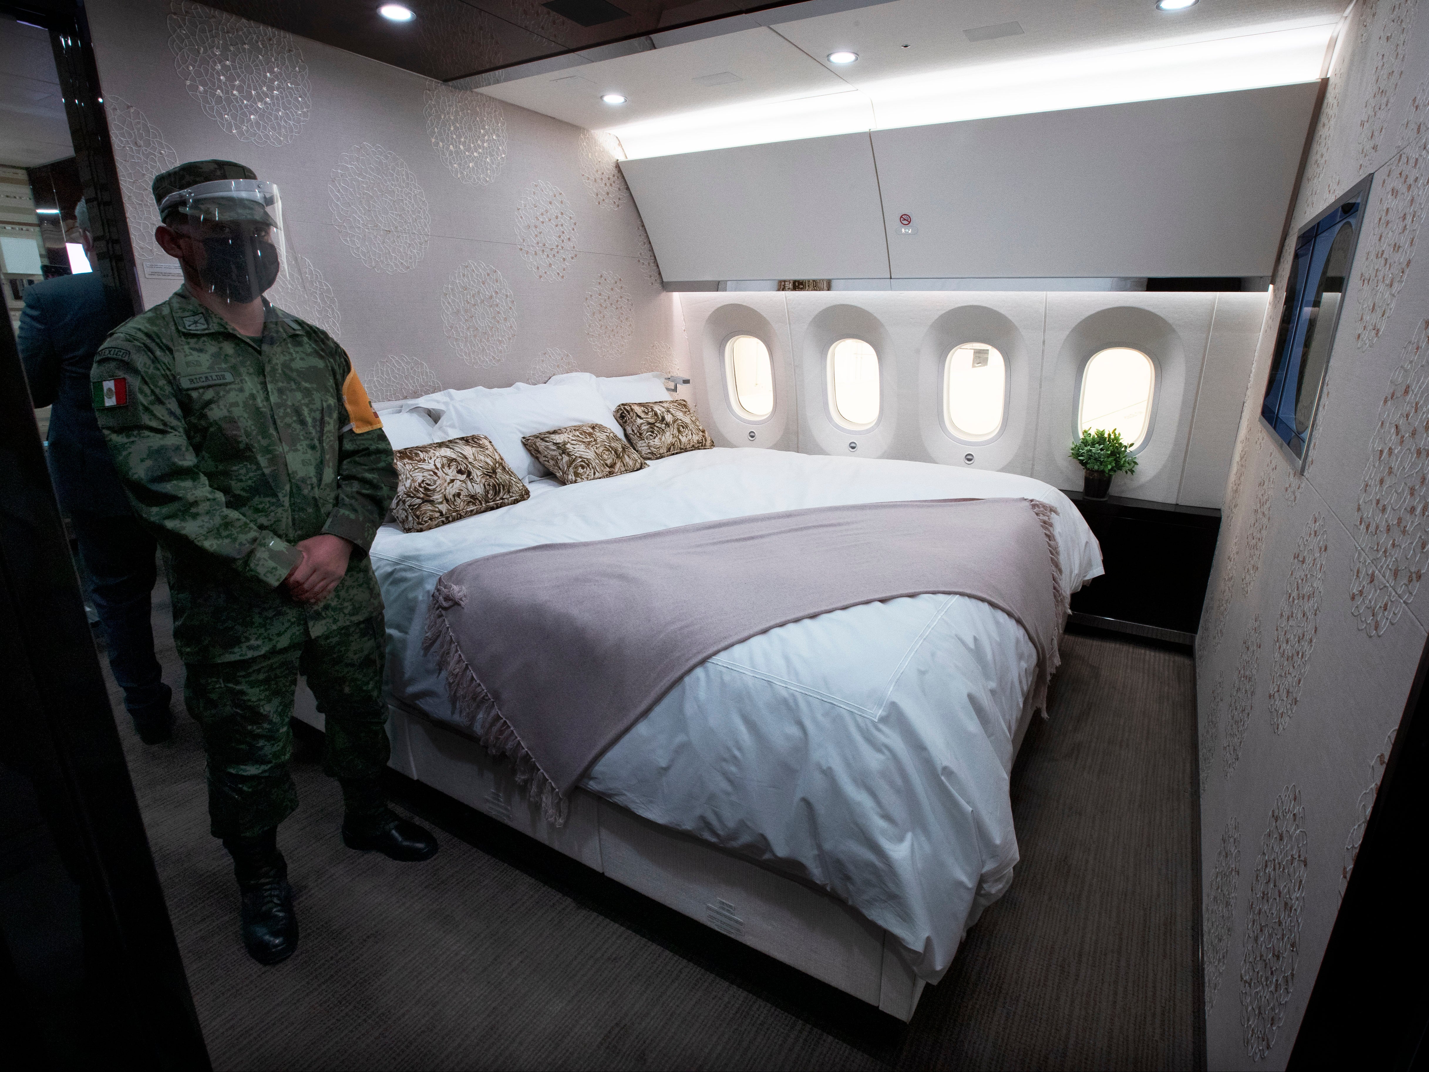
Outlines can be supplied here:
<path id="1" fill-rule="evenodd" d="M 767 0 L 554 0 L 550 6 L 539 0 L 402 0 L 416 14 L 410 23 L 393 23 L 377 14 L 382 0 L 206 3 L 300 37 L 452 81 L 799 0 L 773 4 Z"/>

